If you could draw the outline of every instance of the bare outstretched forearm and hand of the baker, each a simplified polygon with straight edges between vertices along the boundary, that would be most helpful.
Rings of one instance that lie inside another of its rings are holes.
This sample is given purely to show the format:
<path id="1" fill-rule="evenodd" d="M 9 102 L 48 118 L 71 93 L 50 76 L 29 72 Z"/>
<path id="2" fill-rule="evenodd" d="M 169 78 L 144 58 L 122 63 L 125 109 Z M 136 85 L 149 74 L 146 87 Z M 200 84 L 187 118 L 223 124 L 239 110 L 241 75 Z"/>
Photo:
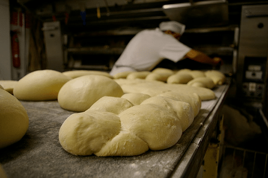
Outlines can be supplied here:
<path id="1" fill-rule="evenodd" d="M 211 64 L 213 66 L 216 66 L 217 64 L 219 64 L 220 62 L 222 63 L 222 59 L 221 58 L 210 58 L 209 56 L 207 56 L 206 54 L 191 49 L 186 55 L 185 58 L 189 58 L 192 60 L 195 60 L 197 62 L 201 62 L 201 63 L 207 63 L 207 64 Z"/>

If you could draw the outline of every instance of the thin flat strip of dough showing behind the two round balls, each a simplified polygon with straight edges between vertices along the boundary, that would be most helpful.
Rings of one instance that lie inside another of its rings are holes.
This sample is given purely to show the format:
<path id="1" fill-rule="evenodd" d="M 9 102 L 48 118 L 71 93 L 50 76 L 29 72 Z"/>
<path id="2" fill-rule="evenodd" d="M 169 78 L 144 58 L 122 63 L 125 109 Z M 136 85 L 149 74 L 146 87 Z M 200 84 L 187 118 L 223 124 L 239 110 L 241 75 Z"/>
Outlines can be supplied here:
<path id="1" fill-rule="evenodd" d="M 72 79 L 85 76 L 85 75 L 100 75 L 100 76 L 106 76 L 106 77 L 113 79 L 113 76 L 111 76 L 107 72 L 93 71 L 93 70 L 73 70 L 73 71 L 62 72 L 62 74 Z"/>

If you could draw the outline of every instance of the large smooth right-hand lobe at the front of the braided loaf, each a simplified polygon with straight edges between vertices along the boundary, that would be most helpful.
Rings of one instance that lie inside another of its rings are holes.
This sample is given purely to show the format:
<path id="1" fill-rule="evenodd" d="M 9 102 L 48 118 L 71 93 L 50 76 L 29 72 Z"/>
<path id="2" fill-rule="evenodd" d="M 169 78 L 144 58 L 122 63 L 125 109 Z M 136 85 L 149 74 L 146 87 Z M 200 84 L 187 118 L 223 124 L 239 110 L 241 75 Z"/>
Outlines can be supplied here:
<path id="1" fill-rule="evenodd" d="M 120 113 L 119 118 L 122 128 L 144 140 L 151 150 L 173 146 L 182 134 L 174 111 L 155 104 L 133 106 Z"/>

